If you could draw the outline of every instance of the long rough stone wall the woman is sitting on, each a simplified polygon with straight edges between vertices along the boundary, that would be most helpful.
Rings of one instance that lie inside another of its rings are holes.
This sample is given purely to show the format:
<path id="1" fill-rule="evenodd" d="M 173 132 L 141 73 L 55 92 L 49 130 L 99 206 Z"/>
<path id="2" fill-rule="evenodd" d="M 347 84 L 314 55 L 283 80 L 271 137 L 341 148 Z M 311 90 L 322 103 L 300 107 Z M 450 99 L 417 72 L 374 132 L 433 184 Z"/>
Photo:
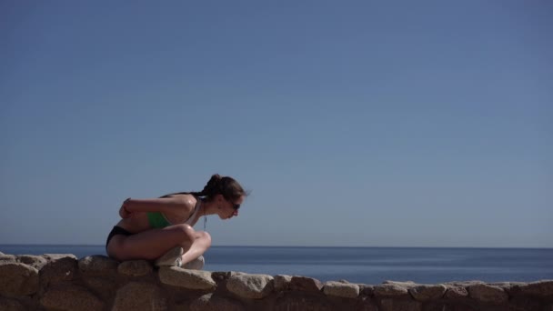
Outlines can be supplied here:
<path id="1" fill-rule="evenodd" d="M 0 310 L 553 311 L 553 280 L 381 285 L 0 253 Z"/>

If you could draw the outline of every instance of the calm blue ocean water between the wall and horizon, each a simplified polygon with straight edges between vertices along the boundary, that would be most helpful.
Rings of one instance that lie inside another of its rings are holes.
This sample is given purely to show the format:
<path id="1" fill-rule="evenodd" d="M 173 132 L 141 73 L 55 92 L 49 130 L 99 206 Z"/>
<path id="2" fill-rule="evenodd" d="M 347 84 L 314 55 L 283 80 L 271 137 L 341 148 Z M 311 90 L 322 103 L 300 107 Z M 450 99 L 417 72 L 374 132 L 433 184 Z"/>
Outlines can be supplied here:
<path id="1" fill-rule="evenodd" d="M 0 245 L 0 251 L 14 255 L 69 253 L 79 258 L 106 255 L 104 246 Z M 345 279 L 365 284 L 386 280 L 441 283 L 553 279 L 551 248 L 213 246 L 205 257 L 205 269 L 209 271 L 311 276 L 321 281 Z"/>

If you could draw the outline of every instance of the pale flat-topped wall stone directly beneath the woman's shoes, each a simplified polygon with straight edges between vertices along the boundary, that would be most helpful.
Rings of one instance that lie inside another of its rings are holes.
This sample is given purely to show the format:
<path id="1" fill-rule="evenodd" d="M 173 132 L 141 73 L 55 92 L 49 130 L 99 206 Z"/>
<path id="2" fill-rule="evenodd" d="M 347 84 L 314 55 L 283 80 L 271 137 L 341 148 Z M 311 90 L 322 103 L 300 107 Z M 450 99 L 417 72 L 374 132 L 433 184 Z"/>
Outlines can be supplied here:
<path id="1" fill-rule="evenodd" d="M 213 290 L 216 283 L 207 271 L 187 270 L 177 266 L 162 266 L 159 268 L 159 280 L 170 286 L 187 289 Z"/>

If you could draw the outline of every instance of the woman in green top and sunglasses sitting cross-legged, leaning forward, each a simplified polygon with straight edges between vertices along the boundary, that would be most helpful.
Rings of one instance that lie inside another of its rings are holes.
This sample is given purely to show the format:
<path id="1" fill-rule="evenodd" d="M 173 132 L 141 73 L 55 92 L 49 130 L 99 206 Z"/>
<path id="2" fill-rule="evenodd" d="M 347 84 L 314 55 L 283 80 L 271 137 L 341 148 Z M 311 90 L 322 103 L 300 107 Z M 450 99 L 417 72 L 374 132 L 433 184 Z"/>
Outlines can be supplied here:
<path id="1" fill-rule="evenodd" d="M 201 216 L 238 216 L 245 198 L 246 192 L 235 179 L 217 174 L 201 192 L 128 198 L 119 208 L 122 219 L 107 236 L 107 255 L 119 261 L 157 259 L 156 266 L 201 269 L 211 236 L 192 226 Z"/>

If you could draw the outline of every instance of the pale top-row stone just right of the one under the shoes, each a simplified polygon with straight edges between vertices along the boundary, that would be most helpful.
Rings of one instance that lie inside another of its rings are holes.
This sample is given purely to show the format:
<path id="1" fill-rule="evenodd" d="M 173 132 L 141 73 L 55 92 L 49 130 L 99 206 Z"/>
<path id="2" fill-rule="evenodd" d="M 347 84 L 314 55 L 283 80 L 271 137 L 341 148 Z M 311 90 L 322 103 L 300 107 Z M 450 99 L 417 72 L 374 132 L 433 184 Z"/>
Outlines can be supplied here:
<path id="1" fill-rule="evenodd" d="M 226 281 L 229 292 L 246 299 L 261 299 L 271 294 L 274 288 L 273 276 L 241 275 Z"/>

